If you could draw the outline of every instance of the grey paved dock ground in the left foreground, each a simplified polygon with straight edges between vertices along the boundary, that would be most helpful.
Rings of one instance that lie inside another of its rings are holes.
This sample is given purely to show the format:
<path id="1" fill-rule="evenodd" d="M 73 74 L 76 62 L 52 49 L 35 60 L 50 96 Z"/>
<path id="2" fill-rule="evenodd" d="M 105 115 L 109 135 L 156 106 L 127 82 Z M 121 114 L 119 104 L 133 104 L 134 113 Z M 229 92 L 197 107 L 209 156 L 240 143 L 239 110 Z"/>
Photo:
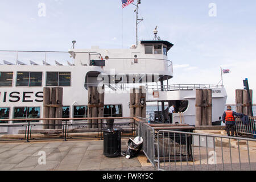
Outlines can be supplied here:
<path id="1" fill-rule="evenodd" d="M 127 150 L 122 140 L 122 151 Z M 40 165 L 39 152 L 46 152 L 46 165 Z M 140 162 L 141 161 L 141 162 Z M 69 142 L 0 143 L 1 171 L 143 171 L 154 170 L 143 152 L 132 159 L 107 158 L 103 155 L 102 140 Z"/>

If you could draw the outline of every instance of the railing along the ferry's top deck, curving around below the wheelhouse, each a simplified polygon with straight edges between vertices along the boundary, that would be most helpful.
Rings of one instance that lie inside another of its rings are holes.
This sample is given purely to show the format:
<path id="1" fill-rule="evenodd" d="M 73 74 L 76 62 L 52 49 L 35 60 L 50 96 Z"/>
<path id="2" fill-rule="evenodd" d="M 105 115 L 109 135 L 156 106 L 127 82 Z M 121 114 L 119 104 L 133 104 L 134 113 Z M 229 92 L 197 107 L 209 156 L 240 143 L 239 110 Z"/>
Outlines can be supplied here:
<path id="1" fill-rule="evenodd" d="M 8 55 L 4 55 L 5 53 L 8 53 Z M 37 55 L 32 55 L 34 53 L 37 53 Z M 30 54 L 29 56 L 27 54 Z M 55 54 L 54 56 L 52 54 Z M 65 55 L 65 54 L 68 54 Z M 68 65 L 75 65 L 74 60 L 76 59 L 77 55 L 79 54 L 85 54 L 84 58 L 85 61 L 91 61 L 97 59 L 105 59 L 106 64 L 111 64 L 112 61 L 117 60 L 118 63 L 123 61 L 123 64 L 127 64 L 127 60 L 156 60 L 156 61 L 163 61 L 166 63 L 166 67 L 168 68 L 169 72 L 173 71 L 172 67 L 172 61 L 167 59 L 158 59 L 158 58 L 125 58 L 125 57 L 102 57 L 101 53 L 99 52 L 84 52 L 84 51 L 9 51 L 9 50 L 0 50 L 0 59 L 4 60 L 4 64 L 6 65 L 26 65 L 26 63 L 23 63 L 23 61 L 30 61 L 31 65 L 39 65 L 39 63 L 36 63 L 34 60 L 40 60 L 43 61 L 43 65 L 51 65 L 51 63 L 56 65 L 63 65 L 61 63 L 61 60 L 67 61 Z M 10 60 L 11 59 L 11 60 Z M 88 60 L 89 59 L 89 60 Z M 15 63 L 11 63 L 11 61 L 15 61 Z M 48 63 L 51 61 L 51 63 Z M 81 61 L 80 61 L 81 62 Z M 77 64 L 77 63 L 76 63 Z M 136 63 L 134 63 L 136 64 Z M 81 65 L 90 65 L 90 64 L 83 64 Z M 141 66 L 141 65 L 140 65 Z"/>

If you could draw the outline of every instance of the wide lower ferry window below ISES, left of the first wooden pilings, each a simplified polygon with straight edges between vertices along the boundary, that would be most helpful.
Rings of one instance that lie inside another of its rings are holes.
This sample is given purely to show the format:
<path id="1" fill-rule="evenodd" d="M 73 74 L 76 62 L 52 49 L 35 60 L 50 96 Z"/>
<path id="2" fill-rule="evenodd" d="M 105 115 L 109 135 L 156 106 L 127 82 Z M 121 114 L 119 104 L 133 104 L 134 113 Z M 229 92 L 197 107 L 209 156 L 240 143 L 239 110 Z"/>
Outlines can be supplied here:
<path id="1" fill-rule="evenodd" d="M 40 118 L 40 107 L 14 107 L 14 119 Z M 14 123 L 25 123 L 27 121 L 14 121 Z M 30 121 L 39 122 L 39 121 Z"/>

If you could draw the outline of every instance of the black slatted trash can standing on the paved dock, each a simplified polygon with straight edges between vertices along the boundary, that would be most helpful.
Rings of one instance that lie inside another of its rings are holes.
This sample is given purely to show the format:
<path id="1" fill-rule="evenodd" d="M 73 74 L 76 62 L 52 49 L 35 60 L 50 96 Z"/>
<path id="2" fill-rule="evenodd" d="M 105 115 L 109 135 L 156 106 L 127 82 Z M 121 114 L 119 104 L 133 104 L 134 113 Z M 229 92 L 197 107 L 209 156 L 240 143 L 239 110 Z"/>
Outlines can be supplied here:
<path id="1" fill-rule="evenodd" d="M 122 129 L 104 129 L 104 152 L 108 158 L 121 155 L 121 132 Z"/>

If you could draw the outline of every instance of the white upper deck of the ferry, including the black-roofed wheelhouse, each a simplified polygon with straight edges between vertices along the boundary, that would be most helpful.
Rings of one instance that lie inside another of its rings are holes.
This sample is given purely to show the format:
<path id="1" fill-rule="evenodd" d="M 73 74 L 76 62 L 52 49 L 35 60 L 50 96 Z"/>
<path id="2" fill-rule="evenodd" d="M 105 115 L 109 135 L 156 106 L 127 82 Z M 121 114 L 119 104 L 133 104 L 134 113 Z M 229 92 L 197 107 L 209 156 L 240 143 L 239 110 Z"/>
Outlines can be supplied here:
<path id="1" fill-rule="evenodd" d="M 59 51 L 0 51 L 0 71 L 61 71 L 83 68 L 106 75 L 159 75 L 173 77 L 167 52 L 173 45 L 164 41 L 142 41 L 129 49 L 69 49 Z"/>

